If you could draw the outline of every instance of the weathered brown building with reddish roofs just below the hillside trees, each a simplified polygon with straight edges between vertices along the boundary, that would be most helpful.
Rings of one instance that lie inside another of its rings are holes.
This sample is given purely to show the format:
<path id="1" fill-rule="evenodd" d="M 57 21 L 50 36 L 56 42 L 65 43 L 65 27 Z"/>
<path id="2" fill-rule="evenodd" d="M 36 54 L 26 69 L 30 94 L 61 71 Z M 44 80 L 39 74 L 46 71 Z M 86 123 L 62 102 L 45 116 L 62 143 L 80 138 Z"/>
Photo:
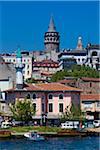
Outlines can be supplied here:
<path id="1" fill-rule="evenodd" d="M 83 94 L 99 94 L 100 93 L 100 79 L 99 78 L 66 77 L 64 80 L 59 81 L 59 83 L 80 88 L 82 89 Z"/>

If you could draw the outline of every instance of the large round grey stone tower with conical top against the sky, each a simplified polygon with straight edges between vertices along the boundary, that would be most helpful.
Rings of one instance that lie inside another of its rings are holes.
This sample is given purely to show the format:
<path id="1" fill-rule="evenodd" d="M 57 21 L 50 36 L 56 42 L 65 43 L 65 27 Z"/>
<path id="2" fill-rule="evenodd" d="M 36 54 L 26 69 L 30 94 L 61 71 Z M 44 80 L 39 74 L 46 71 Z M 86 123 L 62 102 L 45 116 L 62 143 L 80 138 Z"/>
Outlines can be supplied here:
<path id="1" fill-rule="evenodd" d="M 52 51 L 55 50 L 56 52 L 59 52 L 59 32 L 56 31 L 56 27 L 54 25 L 53 17 L 51 16 L 48 31 L 45 32 L 44 35 L 44 45 L 46 51 Z"/>

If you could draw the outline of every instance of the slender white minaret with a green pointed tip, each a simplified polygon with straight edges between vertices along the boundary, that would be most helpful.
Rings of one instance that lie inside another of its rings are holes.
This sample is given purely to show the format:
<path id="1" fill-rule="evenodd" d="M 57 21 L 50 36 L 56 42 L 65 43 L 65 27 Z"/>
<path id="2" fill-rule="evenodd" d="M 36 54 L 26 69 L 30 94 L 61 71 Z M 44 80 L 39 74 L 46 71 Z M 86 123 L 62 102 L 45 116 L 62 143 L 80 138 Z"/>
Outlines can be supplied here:
<path id="1" fill-rule="evenodd" d="M 22 56 L 20 48 L 17 50 L 16 54 L 16 88 L 22 89 L 23 88 L 23 73 L 22 70 L 24 68 L 24 65 L 22 64 Z"/>

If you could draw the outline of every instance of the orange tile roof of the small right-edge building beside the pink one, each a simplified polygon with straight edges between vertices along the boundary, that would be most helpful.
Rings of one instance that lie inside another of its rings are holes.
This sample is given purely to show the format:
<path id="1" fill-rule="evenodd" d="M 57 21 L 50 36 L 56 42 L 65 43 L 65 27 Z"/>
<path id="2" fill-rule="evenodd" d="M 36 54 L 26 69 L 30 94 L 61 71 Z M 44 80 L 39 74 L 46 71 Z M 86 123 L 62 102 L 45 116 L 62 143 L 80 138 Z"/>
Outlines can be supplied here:
<path id="1" fill-rule="evenodd" d="M 100 100 L 100 94 L 87 94 L 87 95 L 81 95 L 82 101 L 96 101 Z"/>

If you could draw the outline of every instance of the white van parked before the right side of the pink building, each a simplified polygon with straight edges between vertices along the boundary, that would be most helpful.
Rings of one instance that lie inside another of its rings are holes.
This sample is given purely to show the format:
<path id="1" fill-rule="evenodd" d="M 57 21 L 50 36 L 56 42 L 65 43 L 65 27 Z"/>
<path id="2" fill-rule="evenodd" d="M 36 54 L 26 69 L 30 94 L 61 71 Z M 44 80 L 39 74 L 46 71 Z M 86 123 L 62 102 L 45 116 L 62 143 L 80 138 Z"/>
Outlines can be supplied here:
<path id="1" fill-rule="evenodd" d="M 61 123 L 62 129 L 77 129 L 79 128 L 79 121 L 66 121 L 65 123 Z"/>

